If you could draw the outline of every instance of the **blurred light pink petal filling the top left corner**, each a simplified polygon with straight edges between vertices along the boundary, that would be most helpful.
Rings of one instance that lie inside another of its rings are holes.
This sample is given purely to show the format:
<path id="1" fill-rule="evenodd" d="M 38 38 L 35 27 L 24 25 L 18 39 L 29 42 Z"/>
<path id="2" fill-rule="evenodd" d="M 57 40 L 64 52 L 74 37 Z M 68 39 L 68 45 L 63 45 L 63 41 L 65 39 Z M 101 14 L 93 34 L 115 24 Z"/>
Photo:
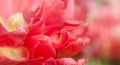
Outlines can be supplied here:
<path id="1" fill-rule="evenodd" d="M 30 8 L 32 0 L 1 0 L 0 16 L 7 21 L 8 17 L 15 12 L 22 12 Z"/>

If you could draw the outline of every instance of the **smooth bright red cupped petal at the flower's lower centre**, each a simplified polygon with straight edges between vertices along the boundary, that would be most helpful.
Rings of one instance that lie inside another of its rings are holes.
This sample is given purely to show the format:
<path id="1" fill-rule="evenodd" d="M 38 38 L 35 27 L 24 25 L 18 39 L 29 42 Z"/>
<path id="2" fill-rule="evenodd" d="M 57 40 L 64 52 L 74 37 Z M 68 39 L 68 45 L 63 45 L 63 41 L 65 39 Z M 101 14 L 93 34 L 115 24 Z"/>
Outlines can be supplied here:
<path id="1" fill-rule="evenodd" d="M 56 57 L 56 51 L 48 36 L 32 36 L 24 45 L 29 49 L 31 58 L 43 57 L 44 59 L 47 59 L 49 57 Z"/>

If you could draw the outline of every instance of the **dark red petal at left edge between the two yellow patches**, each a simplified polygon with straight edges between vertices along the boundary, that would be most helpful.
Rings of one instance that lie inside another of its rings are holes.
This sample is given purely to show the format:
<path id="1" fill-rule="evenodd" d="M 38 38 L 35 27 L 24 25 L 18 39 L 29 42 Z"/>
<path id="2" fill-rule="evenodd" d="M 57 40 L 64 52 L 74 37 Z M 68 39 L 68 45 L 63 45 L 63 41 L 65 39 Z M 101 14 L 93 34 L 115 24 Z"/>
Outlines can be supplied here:
<path id="1" fill-rule="evenodd" d="M 25 35 L 22 31 L 6 32 L 0 35 L 0 46 L 17 47 L 22 45 Z"/>

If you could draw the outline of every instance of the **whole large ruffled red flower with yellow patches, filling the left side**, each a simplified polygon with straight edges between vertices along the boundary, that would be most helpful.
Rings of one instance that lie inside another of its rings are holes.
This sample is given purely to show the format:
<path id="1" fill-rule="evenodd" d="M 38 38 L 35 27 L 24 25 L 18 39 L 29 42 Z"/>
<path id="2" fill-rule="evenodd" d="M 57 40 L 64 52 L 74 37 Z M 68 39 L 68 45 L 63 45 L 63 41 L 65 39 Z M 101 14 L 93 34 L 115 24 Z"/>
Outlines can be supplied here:
<path id="1" fill-rule="evenodd" d="M 90 42 L 80 0 L 0 0 L 0 65 L 84 65 Z"/>

